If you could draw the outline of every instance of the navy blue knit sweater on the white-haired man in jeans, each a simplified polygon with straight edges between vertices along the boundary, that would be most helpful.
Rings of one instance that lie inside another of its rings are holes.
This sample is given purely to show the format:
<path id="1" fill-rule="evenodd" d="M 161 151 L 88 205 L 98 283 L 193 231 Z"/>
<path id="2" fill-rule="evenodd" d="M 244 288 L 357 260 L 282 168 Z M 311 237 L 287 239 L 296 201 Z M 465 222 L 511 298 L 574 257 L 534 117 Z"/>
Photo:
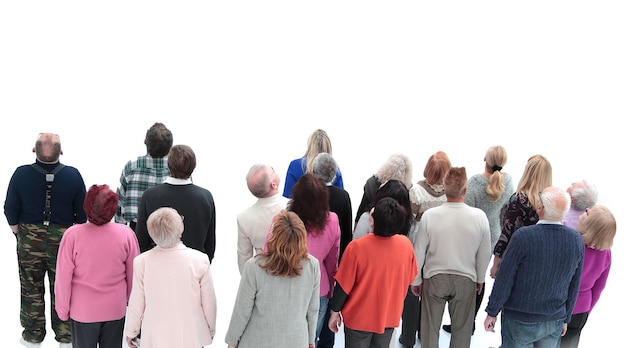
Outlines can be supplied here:
<path id="1" fill-rule="evenodd" d="M 570 321 L 585 245 L 576 230 L 543 222 L 511 237 L 485 308 L 489 316 L 502 311 L 524 322 Z"/>

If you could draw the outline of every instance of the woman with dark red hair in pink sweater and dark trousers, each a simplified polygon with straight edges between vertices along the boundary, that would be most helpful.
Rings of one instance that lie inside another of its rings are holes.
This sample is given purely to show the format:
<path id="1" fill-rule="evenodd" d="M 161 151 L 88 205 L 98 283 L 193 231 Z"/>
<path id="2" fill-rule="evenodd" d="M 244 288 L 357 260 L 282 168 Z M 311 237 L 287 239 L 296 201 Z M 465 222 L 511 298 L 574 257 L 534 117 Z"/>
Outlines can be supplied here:
<path id="1" fill-rule="evenodd" d="M 130 227 L 111 222 L 117 201 L 109 186 L 91 186 L 83 204 L 88 222 L 61 239 L 55 309 L 61 320 L 72 319 L 74 347 L 122 347 L 139 244 Z"/>

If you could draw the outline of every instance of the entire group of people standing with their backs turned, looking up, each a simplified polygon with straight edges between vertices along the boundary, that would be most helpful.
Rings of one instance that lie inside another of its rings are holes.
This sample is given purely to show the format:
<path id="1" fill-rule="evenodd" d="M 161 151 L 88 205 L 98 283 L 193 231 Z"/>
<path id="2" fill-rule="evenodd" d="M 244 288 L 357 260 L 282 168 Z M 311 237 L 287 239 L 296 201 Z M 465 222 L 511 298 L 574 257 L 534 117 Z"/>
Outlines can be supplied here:
<path id="1" fill-rule="evenodd" d="M 59 162 L 56 134 L 40 134 L 35 164 L 16 169 L 5 215 L 17 239 L 24 346 L 46 334 L 46 273 L 61 347 L 213 343 L 213 196 L 193 184 L 195 154 L 173 145 L 165 125 L 150 127 L 145 145 L 116 192 L 86 190 Z M 502 146 L 484 163 L 468 177 L 438 151 L 414 184 L 411 160 L 392 154 L 364 184 L 355 216 L 322 129 L 290 163 L 282 192 L 270 165 L 252 165 L 257 200 L 237 215 L 228 347 L 332 347 L 341 327 L 347 348 L 393 347 L 397 328 L 404 347 L 438 347 L 440 328 L 451 347 L 469 347 L 492 261 L 484 329 L 500 315 L 502 347 L 576 347 L 610 271 L 615 218 L 593 184 L 552 186 L 542 155 L 517 189 Z"/>

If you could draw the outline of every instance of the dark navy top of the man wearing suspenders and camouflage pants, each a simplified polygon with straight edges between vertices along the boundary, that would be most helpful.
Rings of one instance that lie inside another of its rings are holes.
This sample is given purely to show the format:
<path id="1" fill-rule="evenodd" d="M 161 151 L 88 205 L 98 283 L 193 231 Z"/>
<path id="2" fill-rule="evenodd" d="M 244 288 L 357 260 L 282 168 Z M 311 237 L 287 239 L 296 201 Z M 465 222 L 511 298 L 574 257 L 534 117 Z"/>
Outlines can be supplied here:
<path id="1" fill-rule="evenodd" d="M 44 164 L 44 170 L 52 170 L 60 163 Z M 87 221 L 83 209 L 85 182 L 80 172 L 70 166 L 55 174 L 50 198 L 50 222 L 59 225 L 81 224 Z M 41 224 L 46 204 L 46 176 L 30 164 L 19 166 L 9 182 L 4 202 L 4 215 L 9 225 Z"/>

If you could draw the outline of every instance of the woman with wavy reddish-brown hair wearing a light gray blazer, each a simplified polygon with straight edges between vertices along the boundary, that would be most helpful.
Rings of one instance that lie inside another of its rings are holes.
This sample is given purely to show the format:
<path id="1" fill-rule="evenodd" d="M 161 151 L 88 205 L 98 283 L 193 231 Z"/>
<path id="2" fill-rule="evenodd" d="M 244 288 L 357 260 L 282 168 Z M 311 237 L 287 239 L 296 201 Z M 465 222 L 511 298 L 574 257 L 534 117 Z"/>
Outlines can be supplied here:
<path id="1" fill-rule="evenodd" d="M 315 347 L 320 265 L 308 253 L 296 213 L 275 217 L 263 253 L 244 266 L 230 326 L 229 348 Z"/>

